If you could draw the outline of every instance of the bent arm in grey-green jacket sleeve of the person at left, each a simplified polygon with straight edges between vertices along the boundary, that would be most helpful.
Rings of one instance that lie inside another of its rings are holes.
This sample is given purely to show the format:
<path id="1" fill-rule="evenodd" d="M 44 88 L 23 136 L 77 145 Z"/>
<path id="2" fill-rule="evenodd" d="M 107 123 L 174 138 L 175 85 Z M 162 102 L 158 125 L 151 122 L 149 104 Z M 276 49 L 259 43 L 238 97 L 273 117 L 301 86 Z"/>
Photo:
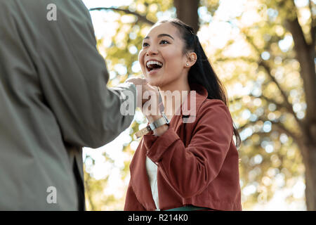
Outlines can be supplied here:
<path id="1" fill-rule="evenodd" d="M 39 22 L 37 66 L 41 86 L 65 141 L 98 148 L 131 124 L 136 86 L 126 83 L 107 88 L 109 76 L 96 49 L 88 10 L 81 1 L 55 2 L 57 20 Z M 130 103 L 130 115 L 124 115 L 124 102 Z"/>

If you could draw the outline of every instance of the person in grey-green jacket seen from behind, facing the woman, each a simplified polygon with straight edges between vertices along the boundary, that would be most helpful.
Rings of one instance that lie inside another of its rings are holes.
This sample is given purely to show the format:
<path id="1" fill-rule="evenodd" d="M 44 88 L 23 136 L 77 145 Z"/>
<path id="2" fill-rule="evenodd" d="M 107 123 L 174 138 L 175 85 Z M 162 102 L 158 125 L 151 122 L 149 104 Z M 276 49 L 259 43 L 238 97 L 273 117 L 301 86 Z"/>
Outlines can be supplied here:
<path id="1" fill-rule="evenodd" d="M 81 1 L 0 0 L 0 210 L 82 207 L 81 147 L 129 127 L 95 41 Z"/>

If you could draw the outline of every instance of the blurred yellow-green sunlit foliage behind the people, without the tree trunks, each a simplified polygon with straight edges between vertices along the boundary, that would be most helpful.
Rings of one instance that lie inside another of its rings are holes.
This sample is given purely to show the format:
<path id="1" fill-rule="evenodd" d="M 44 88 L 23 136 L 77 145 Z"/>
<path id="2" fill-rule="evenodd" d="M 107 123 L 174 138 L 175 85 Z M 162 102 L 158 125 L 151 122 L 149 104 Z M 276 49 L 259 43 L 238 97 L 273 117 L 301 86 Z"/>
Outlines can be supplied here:
<path id="1" fill-rule="evenodd" d="M 243 143 L 239 148 L 242 204 L 245 210 L 251 210 L 257 203 L 267 203 L 275 191 L 293 186 L 296 178 L 303 176 L 301 154 L 291 134 L 301 135 L 297 120 L 303 119 L 306 105 L 300 65 L 294 58 L 291 34 L 284 27 L 284 20 L 294 18 L 301 8 L 296 8 L 293 1 L 281 0 L 246 1 L 244 5 L 240 15 L 225 21 L 238 32 L 223 48 L 211 47 L 212 40 L 206 40 L 202 45 L 228 90 L 230 112 L 242 136 Z M 210 23 L 216 20 L 220 1 L 201 0 L 200 6 L 201 15 L 203 12 L 203 15 L 209 15 L 200 18 L 200 32 L 205 28 L 205 33 Z M 136 0 L 122 8 L 143 15 L 152 22 L 166 12 L 175 16 L 171 0 Z M 249 11 L 254 13 L 252 18 L 247 18 Z M 119 17 L 110 46 L 104 46 L 105 39 L 98 40 L 98 48 L 105 52 L 107 68 L 112 72 L 108 86 L 124 82 L 129 75 L 141 75 L 136 66 L 138 51 L 150 28 L 136 15 L 114 12 Z M 310 21 L 305 20 L 301 26 L 309 27 Z M 310 34 L 308 30 L 305 31 L 308 40 Z M 240 45 L 244 49 L 239 52 L 235 49 Z M 121 67 L 126 68 L 126 72 L 120 72 Z M 287 108 L 280 89 L 288 96 L 287 101 L 296 105 L 294 112 Z M 135 147 L 131 148 L 131 143 L 135 141 L 133 134 L 145 123 L 145 118 L 135 120 L 129 128 L 131 141 L 123 148 L 126 160 L 121 169 L 122 180 L 129 179 L 129 163 L 135 151 Z M 106 155 L 105 158 L 110 160 Z M 107 179 L 96 180 L 88 173 L 85 176 L 87 196 L 90 196 L 87 202 L 93 205 L 91 210 L 102 210 L 105 205 L 111 204 L 114 207 L 107 209 L 122 210 L 124 198 L 115 199 L 103 193 Z M 289 195 L 289 201 L 294 200 L 297 199 Z"/>

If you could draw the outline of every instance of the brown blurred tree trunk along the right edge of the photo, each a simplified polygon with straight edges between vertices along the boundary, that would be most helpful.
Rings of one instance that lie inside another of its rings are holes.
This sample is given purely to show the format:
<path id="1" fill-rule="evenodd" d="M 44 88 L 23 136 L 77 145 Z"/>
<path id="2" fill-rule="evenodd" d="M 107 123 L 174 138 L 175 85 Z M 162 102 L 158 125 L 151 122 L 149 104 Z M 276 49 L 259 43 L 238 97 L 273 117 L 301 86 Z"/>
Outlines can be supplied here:
<path id="1" fill-rule="evenodd" d="M 316 72 L 315 41 L 308 44 L 305 40 L 298 18 L 286 20 L 285 26 L 294 39 L 296 59 L 301 66 L 301 77 L 307 105 L 305 118 L 301 123 L 303 134 L 298 146 L 305 165 L 305 199 L 307 210 L 316 210 Z M 314 30 L 311 30 L 314 33 Z M 313 37 L 315 39 L 315 37 Z M 295 115 L 294 115 L 295 116 Z"/>

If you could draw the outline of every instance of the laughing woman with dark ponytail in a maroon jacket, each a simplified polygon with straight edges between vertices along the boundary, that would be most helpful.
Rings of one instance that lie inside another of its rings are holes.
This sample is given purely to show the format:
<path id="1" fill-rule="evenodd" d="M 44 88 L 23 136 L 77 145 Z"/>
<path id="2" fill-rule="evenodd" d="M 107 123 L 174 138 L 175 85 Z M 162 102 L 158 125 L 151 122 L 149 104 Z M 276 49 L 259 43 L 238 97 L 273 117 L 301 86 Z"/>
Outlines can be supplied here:
<path id="1" fill-rule="evenodd" d="M 162 116 L 167 122 L 145 134 L 136 149 L 124 210 L 242 210 L 232 138 L 238 145 L 239 134 L 223 85 L 192 27 L 177 19 L 155 24 L 138 58 L 148 84 L 164 96 L 156 105 L 164 106 L 162 115 L 143 113 L 150 123 Z M 171 96 L 173 104 L 166 103 L 168 91 L 181 98 Z M 184 105 L 190 105 L 188 113 Z"/>

